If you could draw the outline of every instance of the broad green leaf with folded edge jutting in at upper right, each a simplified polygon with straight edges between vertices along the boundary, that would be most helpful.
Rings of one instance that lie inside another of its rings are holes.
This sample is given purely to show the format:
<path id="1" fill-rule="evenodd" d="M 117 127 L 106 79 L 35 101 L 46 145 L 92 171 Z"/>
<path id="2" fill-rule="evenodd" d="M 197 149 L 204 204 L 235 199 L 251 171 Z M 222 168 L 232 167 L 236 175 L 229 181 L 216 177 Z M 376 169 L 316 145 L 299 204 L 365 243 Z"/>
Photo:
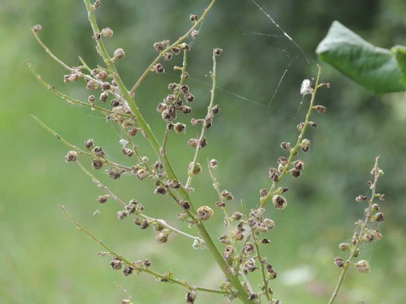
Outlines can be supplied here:
<path id="1" fill-rule="evenodd" d="M 384 95 L 406 91 L 406 49 L 378 48 L 334 21 L 327 36 L 318 45 L 320 59 L 365 87 Z"/>

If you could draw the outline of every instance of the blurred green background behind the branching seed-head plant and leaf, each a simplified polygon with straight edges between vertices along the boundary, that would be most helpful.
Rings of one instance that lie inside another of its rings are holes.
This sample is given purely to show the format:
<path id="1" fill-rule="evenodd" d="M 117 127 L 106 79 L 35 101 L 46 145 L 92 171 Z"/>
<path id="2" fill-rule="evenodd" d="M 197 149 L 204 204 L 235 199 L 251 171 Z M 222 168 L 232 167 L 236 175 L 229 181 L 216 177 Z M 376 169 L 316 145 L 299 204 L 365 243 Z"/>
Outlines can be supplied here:
<path id="1" fill-rule="evenodd" d="M 249 208 L 257 206 L 259 190 L 270 186 L 268 168 L 285 155 L 280 143 L 295 142 L 296 125 L 304 120 L 309 104 L 308 96 L 302 99 L 298 93 L 300 83 L 316 77 L 319 62 L 314 51 L 333 20 L 377 46 L 406 45 L 406 4 L 400 0 L 256 2 L 295 43 L 252 1 L 218 1 L 188 53 L 187 84 L 196 99 L 192 115 L 179 120 L 189 122 L 192 117 L 205 116 L 210 100 L 212 50 L 222 48 L 215 101 L 220 113 L 207 133 L 209 145 L 201 150 L 200 163 L 206 168 L 207 158 L 218 160 L 216 175 L 221 188 L 234 195 L 229 203 L 231 212 L 241 209 L 241 199 Z M 176 41 L 191 27 L 189 14 L 200 16 L 208 4 L 180 0 L 101 2 L 96 11 L 98 25 L 114 31 L 111 39 L 104 39 L 110 54 L 117 48 L 125 51 L 116 67 L 127 88 L 156 57 L 153 44 Z M 82 81 L 63 83 L 63 67 L 31 34 L 30 27 L 38 23 L 43 27 L 39 33 L 43 42 L 67 65 L 79 65 L 78 55 L 91 67 L 102 63 L 94 50 L 82 1 L 0 1 L 0 149 L 4 168 L 0 176 L 0 302 L 119 303 L 124 296 L 114 281 L 138 303 L 184 301 L 186 289 L 158 283 L 145 274 L 124 277 L 121 271 L 113 271 L 108 265 L 111 259 L 96 255 L 102 248 L 74 228 L 60 211 L 60 204 L 96 237 L 130 259 L 149 258 L 157 272 L 171 268 L 176 278 L 189 284 L 217 288 L 223 276 L 207 251 L 193 250 L 189 241 L 174 235 L 166 244 L 158 245 L 152 229 L 140 230 L 132 218 L 117 220 L 120 205 L 109 200 L 100 207 L 96 198 L 104 192 L 76 164 L 64 162 L 69 148 L 30 117 L 31 113 L 36 115 L 80 147 L 92 137 L 111 158 L 133 164 L 133 159 L 120 153 L 117 126 L 106 123 L 96 111 L 66 103 L 33 77 L 27 59 L 59 91 L 81 100 L 95 93 L 87 91 Z M 178 73 L 172 68 L 181 65 L 181 59 L 178 56 L 163 62 L 165 74 L 150 73 L 137 91 L 138 106 L 158 138 L 165 123 L 155 109 L 168 94 L 167 84 L 178 81 Z M 264 249 L 278 272 L 271 285 L 284 303 L 328 302 L 340 273 L 333 263 L 340 254 L 338 244 L 351 238 L 354 222 L 365 207 L 354 198 L 368 194 L 369 172 L 380 155 L 385 175 L 379 180 L 378 191 L 386 197 L 380 202 L 385 221 L 379 229 L 384 238 L 363 251 L 370 260 L 371 273 L 350 273 L 336 302 L 358 303 L 363 299 L 365 303 L 403 303 L 404 93 L 378 97 L 320 64 L 321 80 L 329 82 L 331 88 L 320 89 L 317 94 L 316 104 L 327 110 L 324 115 L 316 111 L 312 115 L 318 124 L 317 129 L 306 132 L 312 148 L 308 154 L 299 155 L 306 168 L 300 178 L 286 177 L 281 182 L 289 187 L 288 207 L 278 211 L 269 206 L 266 210 L 266 216 L 276 222 L 276 229 L 266 235 L 272 243 Z M 170 136 L 168 156 L 183 181 L 194 154 L 187 140 L 199 130 L 200 126 L 188 123 L 187 134 Z M 143 155 L 155 161 L 141 135 L 134 141 Z M 82 163 L 90 168 L 89 160 L 82 159 Z M 137 199 L 146 207 L 145 214 L 187 230 L 176 220 L 179 208 L 167 197 L 153 195 L 150 181 L 124 175 L 111 180 L 104 172 L 95 175 L 124 202 Z M 206 169 L 194 179 L 197 206 L 214 206 L 217 198 L 211 185 Z M 96 210 L 99 213 L 93 215 Z M 215 210 L 208 222 L 215 237 L 225 231 L 222 220 L 222 212 Z M 254 286 L 256 282 L 259 280 L 252 280 Z M 197 296 L 196 303 L 227 302 L 217 295 L 199 292 Z"/>

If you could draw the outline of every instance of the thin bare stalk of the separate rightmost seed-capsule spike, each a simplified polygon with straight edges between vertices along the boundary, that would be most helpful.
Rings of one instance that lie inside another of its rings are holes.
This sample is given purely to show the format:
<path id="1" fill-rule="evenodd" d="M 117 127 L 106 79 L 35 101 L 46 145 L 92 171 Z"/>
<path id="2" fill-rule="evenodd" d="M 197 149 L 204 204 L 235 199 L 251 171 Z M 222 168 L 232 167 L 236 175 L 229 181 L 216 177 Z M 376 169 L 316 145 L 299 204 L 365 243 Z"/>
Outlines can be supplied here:
<path id="1" fill-rule="evenodd" d="M 369 208 L 368 208 L 369 212 L 371 211 L 371 207 L 372 207 L 372 205 L 374 203 L 375 192 L 376 192 L 376 187 L 377 187 L 377 180 L 378 180 L 378 177 L 379 177 L 379 174 L 378 174 L 378 171 L 379 171 L 378 160 L 379 160 L 379 156 L 375 160 L 375 166 L 374 166 L 374 168 L 375 168 L 375 179 L 374 179 L 374 185 L 372 187 L 371 199 L 369 200 Z M 369 223 L 369 221 L 370 221 L 370 218 L 369 218 L 369 216 L 366 215 L 365 216 L 365 221 L 364 221 L 364 223 L 363 223 L 363 225 L 361 227 L 361 232 L 358 235 L 357 244 L 352 248 L 350 257 L 348 258 L 348 260 L 344 264 L 343 269 L 341 270 L 341 275 L 339 277 L 339 281 L 337 282 L 337 285 L 335 286 L 333 295 L 331 296 L 330 301 L 328 302 L 328 304 L 332 304 L 334 302 L 335 298 L 337 297 L 337 293 L 339 293 L 341 284 L 344 281 L 344 278 L 345 278 L 345 275 L 346 275 L 346 272 L 347 272 L 348 268 L 350 267 L 350 265 L 352 265 L 352 260 L 354 258 L 355 253 L 357 252 L 359 244 L 362 242 L 362 236 L 364 235 L 366 225 Z M 360 237 L 361 237 L 361 239 L 360 239 Z"/>

